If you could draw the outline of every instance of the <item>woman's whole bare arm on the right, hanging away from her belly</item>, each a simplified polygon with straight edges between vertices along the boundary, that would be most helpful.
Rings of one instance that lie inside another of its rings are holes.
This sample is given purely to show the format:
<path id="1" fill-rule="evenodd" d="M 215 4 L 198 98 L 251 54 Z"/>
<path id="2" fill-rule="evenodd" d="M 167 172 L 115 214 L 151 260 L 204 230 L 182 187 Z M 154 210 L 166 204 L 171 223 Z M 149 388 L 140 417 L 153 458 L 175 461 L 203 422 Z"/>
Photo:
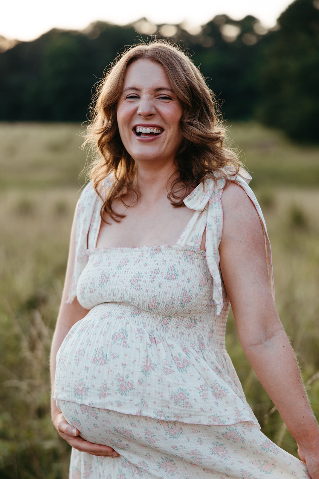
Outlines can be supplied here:
<path id="1" fill-rule="evenodd" d="M 271 295 L 259 216 L 236 183 L 225 188 L 221 201 L 220 269 L 242 349 L 296 439 L 311 478 L 319 479 L 318 423 Z"/>

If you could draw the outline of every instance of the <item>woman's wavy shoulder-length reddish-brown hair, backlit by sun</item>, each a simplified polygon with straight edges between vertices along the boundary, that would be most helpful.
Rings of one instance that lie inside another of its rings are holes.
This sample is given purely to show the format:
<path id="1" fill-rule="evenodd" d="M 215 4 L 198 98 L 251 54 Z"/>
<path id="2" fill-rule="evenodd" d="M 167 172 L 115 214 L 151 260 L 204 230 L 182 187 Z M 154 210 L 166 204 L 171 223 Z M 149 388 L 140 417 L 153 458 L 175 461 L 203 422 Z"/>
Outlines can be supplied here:
<path id="1" fill-rule="evenodd" d="M 121 141 L 116 109 L 126 69 L 141 58 L 157 62 L 164 68 L 183 107 L 180 130 L 184 139 L 175 158 L 179 175 L 174 176 L 167 195 L 172 205 L 184 205 L 183 199 L 203 180 L 215 178 L 214 172 L 219 171 L 227 180 L 223 169 L 233 166 L 238 171 L 239 168 L 237 156 L 223 147 L 225 130 L 221 127 L 214 94 L 190 58 L 179 47 L 161 40 L 131 46 L 116 59 L 99 84 L 84 143 L 93 149 L 90 178 L 100 196 L 99 184 L 112 174 L 112 186 L 106 198 L 101 196 L 104 201 L 101 217 L 106 212 L 115 221 L 123 215 L 112 209 L 112 202 L 121 199 L 123 190 L 132 190 L 138 201 L 138 193 L 133 187 L 136 164 Z"/>

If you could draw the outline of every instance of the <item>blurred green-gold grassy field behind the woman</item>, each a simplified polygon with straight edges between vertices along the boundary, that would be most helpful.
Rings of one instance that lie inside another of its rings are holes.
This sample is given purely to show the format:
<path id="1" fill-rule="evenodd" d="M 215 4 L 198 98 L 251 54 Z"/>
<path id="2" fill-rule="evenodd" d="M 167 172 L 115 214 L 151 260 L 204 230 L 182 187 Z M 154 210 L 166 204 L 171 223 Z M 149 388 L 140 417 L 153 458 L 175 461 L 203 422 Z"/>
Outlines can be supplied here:
<path id="1" fill-rule="evenodd" d="M 86 155 L 80 125 L 0 128 L 0 477 L 66 479 L 69 449 L 49 417 L 48 356 Z M 276 306 L 319 417 L 319 148 L 257 124 L 229 136 L 253 175 L 273 248 Z M 296 445 L 237 339 L 228 352 L 263 431 Z"/>

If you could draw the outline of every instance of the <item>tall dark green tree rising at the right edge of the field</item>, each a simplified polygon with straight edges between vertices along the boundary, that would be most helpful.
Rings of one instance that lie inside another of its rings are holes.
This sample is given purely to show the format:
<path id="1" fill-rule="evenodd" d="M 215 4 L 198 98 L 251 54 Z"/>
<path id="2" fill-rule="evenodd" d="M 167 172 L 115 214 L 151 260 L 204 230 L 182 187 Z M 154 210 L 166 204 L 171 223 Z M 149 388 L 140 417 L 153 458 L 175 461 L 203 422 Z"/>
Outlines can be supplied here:
<path id="1" fill-rule="evenodd" d="M 318 142 L 319 9 L 294 1 L 264 39 L 257 66 L 261 98 L 258 117 L 299 142 Z"/>

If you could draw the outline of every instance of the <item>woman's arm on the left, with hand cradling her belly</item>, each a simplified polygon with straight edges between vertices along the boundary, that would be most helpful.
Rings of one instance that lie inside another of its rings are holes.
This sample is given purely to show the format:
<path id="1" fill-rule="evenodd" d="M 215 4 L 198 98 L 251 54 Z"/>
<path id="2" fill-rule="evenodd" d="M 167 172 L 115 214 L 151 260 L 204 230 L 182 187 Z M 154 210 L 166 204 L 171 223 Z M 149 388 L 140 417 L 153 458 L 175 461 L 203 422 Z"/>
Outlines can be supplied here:
<path id="1" fill-rule="evenodd" d="M 75 262 L 75 245 L 76 245 L 76 230 L 77 230 L 77 208 L 73 219 L 69 257 L 66 267 L 66 280 L 63 288 L 61 306 L 58 314 L 58 318 L 55 326 L 55 333 L 53 335 L 51 355 L 50 355 L 50 369 L 51 369 L 51 387 L 52 387 L 52 399 L 51 399 L 51 412 L 52 421 L 63 439 L 65 439 L 72 447 L 78 449 L 81 452 L 87 452 L 94 456 L 112 456 L 118 457 L 119 454 L 109 446 L 101 444 L 93 444 L 79 435 L 79 430 L 71 426 L 64 418 L 62 412 L 56 406 L 55 399 L 53 399 L 54 382 L 55 382 L 55 368 L 56 368 L 56 354 L 61 346 L 64 338 L 72 328 L 72 326 L 84 318 L 88 314 L 88 309 L 83 308 L 77 298 L 73 302 L 66 303 L 68 298 L 69 288 L 72 281 L 73 268 Z"/>

